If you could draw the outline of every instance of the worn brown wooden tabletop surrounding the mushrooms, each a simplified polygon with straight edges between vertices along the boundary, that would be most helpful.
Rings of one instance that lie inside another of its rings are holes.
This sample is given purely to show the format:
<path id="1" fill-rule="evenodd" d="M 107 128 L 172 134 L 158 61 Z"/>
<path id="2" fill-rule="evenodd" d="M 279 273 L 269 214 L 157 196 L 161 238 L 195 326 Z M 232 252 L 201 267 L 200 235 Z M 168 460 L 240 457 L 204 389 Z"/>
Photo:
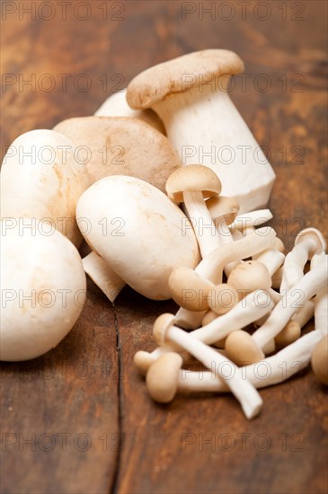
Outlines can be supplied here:
<path id="1" fill-rule="evenodd" d="M 66 19 L 50 4 L 1 5 L 2 154 L 22 132 L 92 115 L 147 66 L 232 49 L 247 77 L 231 96 L 277 172 L 272 225 L 288 248 L 305 226 L 327 237 L 324 1 L 72 0 Z M 45 75 L 55 80 L 50 91 Z M 154 348 L 152 323 L 168 310 L 172 302 L 129 288 L 113 307 L 89 282 L 84 312 L 58 348 L 1 365 L 1 492 L 327 491 L 327 401 L 310 370 L 262 390 L 253 421 L 230 396 L 165 406 L 148 398 L 132 357 Z"/>

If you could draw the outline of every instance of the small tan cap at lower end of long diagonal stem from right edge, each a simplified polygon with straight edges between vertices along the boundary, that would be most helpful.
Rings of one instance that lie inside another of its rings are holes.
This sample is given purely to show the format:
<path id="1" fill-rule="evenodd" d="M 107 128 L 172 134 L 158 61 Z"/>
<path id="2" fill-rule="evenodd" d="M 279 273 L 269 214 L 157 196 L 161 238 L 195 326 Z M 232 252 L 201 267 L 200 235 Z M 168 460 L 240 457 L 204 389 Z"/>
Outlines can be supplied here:
<path id="1" fill-rule="evenodd" d="M 226 357 L 237 366 L 255 364 L 264 358 L 262 349 L 252 339 L 252 336 L 243 330 L 233 331 L 226 337 Z"/>

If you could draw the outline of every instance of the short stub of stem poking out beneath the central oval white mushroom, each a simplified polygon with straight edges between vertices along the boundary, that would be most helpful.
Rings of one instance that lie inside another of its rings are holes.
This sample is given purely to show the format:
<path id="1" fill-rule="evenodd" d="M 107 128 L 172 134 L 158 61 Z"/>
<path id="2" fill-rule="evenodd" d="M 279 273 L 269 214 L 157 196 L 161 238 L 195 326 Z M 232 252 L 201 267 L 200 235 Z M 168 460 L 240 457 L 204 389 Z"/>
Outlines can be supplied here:
<path id="1" fill-rule="evenodd" d="M 102 259 L 95 251 L 90 252 L 82 260 L 84 271 L 100 287 L 111 303 L 120 294 L 126 283 L 113 271 L 108 262 Z"/>

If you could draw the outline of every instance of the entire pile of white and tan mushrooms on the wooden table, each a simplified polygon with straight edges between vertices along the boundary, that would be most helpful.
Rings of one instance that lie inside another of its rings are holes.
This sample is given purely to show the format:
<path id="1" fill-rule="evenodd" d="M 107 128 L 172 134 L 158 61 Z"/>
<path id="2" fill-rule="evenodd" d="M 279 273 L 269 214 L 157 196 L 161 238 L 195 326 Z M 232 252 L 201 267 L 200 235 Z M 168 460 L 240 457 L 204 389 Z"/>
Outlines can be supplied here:
<path id="1" fill-rule="evenodd" d="M 128 284 L 180 306 L 155 320 L 158 348 L 134 358 L 155 401 L 230 391 L 251 419 L 257 388 L 310 359 L 328 384 L 324 238 L 306 228 L 285 256 L 265 225 L 275 174 L 227 90 L 243 70 L 224 49 L 178 57 L 94 116 L 13 142 L 1 172 L 2 360 L 58 345 L 82 312 L 86 273 L 111 302 Z M 186 352 L 208 370 L 183 369 Z"/>

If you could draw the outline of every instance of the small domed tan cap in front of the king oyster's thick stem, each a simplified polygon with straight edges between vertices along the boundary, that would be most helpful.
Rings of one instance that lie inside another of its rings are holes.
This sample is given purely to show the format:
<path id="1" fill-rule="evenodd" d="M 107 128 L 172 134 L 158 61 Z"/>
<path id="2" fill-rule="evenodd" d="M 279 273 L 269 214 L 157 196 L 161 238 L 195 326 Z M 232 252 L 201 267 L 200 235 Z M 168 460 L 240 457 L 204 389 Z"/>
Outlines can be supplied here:
<path id="1" fill-rule="evenodd" d="M 166 181 L 165 189 L 173 202 L 183 202 L 183 192 L 202 192 L 203 198 L 217 198 L 221 181 L 217 173 L 202 164 L 177 168 Z"/>

